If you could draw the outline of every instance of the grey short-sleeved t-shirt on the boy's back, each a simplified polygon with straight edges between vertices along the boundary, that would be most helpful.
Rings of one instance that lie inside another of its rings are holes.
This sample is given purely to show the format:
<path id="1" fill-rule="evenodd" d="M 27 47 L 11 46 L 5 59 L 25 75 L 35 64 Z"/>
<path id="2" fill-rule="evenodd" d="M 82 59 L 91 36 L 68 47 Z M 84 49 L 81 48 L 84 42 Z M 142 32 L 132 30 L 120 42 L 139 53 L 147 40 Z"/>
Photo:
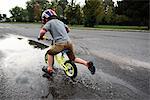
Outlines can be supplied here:
<path id="1" fill-rule="evenodd" d="M 43 28 L 50 32 L 56 43 L 70 41 L 66 27 L 68 26 L 58 19 L 52 19 L 43 26 Z"/>

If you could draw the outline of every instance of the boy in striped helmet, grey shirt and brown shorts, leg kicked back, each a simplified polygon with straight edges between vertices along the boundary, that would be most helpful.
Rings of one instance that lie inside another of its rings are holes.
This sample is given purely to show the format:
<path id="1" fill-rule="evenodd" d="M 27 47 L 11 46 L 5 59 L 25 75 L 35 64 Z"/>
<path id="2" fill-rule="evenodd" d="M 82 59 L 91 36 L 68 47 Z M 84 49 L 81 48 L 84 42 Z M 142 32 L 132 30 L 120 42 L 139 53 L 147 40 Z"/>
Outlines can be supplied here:
<path id="1" fill-rule="evenodd" d="M 54 45 L 52 45 L 52 47 L 47 52 L 48 67 L 42 69 L 44 72 L 52 75 L 52 73 L 54 72 L 52 67 L 54 55 L 60 53 L 64 49 L 69 49 L 70 52 L 67 53 L 67 56 L 70 60 L 74 61 L 75 63 L 87 66 L 91 74 L 95 74 L 95 67 L 93 65 L 93 62 L 75 57 L 73 45 L 68 35 L 69 28 L 67 25 L 65 25 L 62 21 L 58 19 L 57 14 L 55 13 L 54 10 L 47 9 L 42 13 L 42 23 L 44 25 L 40 30 L 38 40 L 43 40 L 43 36 L 48 31 L 50 32 L 54 40 Z"/>

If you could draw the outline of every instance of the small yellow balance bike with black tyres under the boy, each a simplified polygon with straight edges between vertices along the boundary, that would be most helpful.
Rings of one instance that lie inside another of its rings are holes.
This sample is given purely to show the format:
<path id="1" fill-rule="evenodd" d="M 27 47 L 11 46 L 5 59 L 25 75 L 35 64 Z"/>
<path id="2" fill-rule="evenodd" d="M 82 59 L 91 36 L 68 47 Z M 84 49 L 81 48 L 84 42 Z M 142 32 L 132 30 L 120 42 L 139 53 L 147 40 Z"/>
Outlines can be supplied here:
<path id="1" fill-rule="evenodd" d="M 51 41 L 51 45 L 54 44 L 54 40 L 48 39 L 44 37 L 45 40 Z M 65 55 L 67 55 L 67 52 L 70 52 L 70 50 L 65 49 L 61 51 L 59 54 L 54 55 L 54 61 L 57 61 L 58 65 L 63 69 L 64 73 L 70 77 L 71 79 L 75 79 L 77 76 L 77 67 L 76 64 L 70 60 L 67 59 Z M 48 63 L 48 53 L 45 54 L 45 63 Z"/>

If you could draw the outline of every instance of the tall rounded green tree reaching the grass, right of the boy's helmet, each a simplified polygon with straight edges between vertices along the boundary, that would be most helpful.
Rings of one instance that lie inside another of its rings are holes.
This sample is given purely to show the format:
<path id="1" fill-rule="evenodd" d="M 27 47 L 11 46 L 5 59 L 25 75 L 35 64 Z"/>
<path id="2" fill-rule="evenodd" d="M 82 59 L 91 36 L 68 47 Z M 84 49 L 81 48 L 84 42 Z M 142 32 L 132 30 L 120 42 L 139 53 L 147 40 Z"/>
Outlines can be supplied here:
<path id="1" fill-rule="evenodd" d="M 85 26 L 94 27 L 102 20 L 104 15 L 103 0 L 85 0 L 83 8 Z"/>

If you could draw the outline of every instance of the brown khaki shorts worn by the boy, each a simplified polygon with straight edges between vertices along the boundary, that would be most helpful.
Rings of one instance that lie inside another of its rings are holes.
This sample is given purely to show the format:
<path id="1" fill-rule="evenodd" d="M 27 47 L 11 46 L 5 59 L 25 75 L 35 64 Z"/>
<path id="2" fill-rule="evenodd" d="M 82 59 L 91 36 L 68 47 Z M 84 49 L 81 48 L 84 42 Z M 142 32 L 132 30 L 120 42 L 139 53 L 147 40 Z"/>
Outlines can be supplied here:
<path id="1" fill-rule="evenodd" d="M 65 49 L 69 50 L 69 52 L 67 52 L 68 57 L 71 60 L 74 60 L 75 59 L 75 55 L 74 55 L 73 45 L 69 41 L 62 42 L 62 43 L 55 43 L 48 50 L 48 54 L 50 54 L 50 55 L 56 55 L 56 54 L 60 53 L 61 51 L 65 50 Z"/>

